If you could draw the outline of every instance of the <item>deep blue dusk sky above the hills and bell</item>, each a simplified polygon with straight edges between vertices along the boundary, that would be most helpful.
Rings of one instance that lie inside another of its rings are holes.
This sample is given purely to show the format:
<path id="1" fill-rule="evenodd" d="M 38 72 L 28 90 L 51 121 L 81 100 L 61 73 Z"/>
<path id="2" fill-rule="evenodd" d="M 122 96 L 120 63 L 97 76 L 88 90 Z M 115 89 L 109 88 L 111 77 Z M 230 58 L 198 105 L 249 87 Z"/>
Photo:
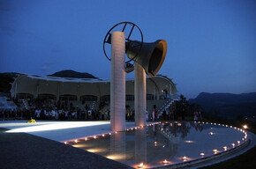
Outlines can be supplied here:
<path id="1" fill-rule="evenodd" d="M 186 98 L 256 92 L 255 0 L 0 0 L 0 72 L 110 78 L 102 43 L 123 21 L 145 42 L 167 40 L 158 74 Z"/>

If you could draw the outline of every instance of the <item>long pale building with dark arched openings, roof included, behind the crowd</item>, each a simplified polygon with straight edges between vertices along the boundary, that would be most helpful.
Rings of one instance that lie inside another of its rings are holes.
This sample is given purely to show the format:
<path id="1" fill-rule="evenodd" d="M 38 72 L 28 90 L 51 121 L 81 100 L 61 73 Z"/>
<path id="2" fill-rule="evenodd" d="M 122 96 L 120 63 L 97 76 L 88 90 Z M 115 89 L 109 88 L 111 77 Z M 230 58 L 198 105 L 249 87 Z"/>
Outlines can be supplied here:
<path id="1" fill-rule="evenodd" d="M 126 79 L 126 105 L 134 105 L 134 80 Z M 110 80 L 101 78 L 47 77 L 19 75 L 11 84 L 14 99 L 51 99 L 72 103 L 83 108 L 84 104 L 99 109 L 101 102 L 110 102 Z M 147 110 L 152 105 L 162 105 L 166 100 L 177 99 L 176 84 L 169 77 L 147 77 Z M 102 107 L 100 107 L 102 108 Z M 109 108 L 108 104 L 104 108 Z"/>

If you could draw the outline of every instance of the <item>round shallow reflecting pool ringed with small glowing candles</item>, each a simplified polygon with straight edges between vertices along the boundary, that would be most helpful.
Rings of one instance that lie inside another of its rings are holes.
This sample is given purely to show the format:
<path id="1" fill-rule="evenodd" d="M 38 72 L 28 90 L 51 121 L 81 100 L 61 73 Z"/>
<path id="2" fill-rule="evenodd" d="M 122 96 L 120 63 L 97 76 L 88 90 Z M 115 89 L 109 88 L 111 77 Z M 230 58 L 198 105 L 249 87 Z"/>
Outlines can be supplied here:
<path id="1" fill-rule="evenodd" d="M 171 165 L 227 151 L 244 143 L 245 133 L 217 124 L 164 122 L 126 132 L 87 137 L 74 147 L 100 154 L 132 167 Z M 223 148 L 224 147 L 224 148 Z"/>

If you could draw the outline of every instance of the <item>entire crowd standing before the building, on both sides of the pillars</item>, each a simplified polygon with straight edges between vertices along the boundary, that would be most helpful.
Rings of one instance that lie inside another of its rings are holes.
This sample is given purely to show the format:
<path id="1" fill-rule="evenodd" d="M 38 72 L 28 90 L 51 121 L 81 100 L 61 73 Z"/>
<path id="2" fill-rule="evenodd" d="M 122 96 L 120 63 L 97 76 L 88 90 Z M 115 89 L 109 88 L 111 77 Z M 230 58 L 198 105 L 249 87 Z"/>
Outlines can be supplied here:
<path id="1" fill-rule="evenodd" d="M 67 101 L 56 102 L 52 99 L 41 100 L 27 100 L 28 107 L 22 106 L 22 101 L 18 102 L 18 109 L 16 110 L 0 110 L 0 120 L 29 120 L 31 118 L 35 120 L 61 120 L 61 121 L 109 121 L 110 111 L 109 109 L 101 108 L 106 103 L 100 103 L 98 109 L 92 108 L 84 103 L 84 108 L 73 106 L 72 102 L 68 104 Z M 152 112 L 146 112 L 147 121 L 176 121 L 184 120 L 185 110 L 184 107 L 178 106 L 177 102 L 174 102 L 169 108 L 165 108 L 162 114 L 159 114 L 156 107 Z M 200 111 L 194 112 L 194 121 L 201 120 Z M 134 121 L 135 112 L 130 107 L 126 107 L 125 120 Z"/>

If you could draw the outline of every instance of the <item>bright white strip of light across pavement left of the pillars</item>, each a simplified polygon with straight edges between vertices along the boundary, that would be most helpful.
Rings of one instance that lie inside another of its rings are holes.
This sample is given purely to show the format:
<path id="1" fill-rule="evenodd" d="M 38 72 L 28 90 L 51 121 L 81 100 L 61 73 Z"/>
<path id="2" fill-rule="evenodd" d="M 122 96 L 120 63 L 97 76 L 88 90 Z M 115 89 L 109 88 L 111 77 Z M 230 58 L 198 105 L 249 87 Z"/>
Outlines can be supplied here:
<path id="1" fill-rule="evenodd" d="M 74 129 L 74 128 L 83 128 L 89 126 L 97 126 L 109 124 L 105 121 L 87 121 L 87 122 L 53 122 L 53 123 L 37 123 L 41 125 L 29 126 L 25 128 L 11 129 L 6 131 L 6 133 L 20 133 L 20 132 L 37 132 L 37 131 L 49 131 L 49 130 L 57 130 L 57 129 Z"/>

